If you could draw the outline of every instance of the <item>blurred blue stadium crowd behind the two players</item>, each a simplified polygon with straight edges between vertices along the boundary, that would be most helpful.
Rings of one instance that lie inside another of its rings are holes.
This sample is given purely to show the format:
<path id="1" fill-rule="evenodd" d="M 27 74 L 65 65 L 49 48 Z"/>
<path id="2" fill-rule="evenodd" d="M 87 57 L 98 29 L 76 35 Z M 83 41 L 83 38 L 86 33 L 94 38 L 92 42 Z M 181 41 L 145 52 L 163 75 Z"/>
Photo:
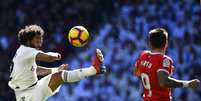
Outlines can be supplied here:
<path id="1" fill-rule="evenodd" d="M 58 51 L 70 70 L 90 65 L 96 48 L 105 54 L 108 73 L 78 83 L 64 84 L 48 101 L 141 101 L 142 85 L 132 75 L 140 51 L 147 46 L 148 31 L 168 30 L 167 54 L 173 58 L 173 77 L 201 80 L 201 5 L 199 0 L 1 0 L 0 1 L 0 101 L 15 101 L 8 87 L 9 64 L 19 46 L 17 32 L 28 24 L 41 25 L 44 51 Z M 74 25 L 91 35 L 87 46 L 72 47 L 67 39 Z M 200 101 L 201 88 L 174 89 L 173 101 Z"/>

